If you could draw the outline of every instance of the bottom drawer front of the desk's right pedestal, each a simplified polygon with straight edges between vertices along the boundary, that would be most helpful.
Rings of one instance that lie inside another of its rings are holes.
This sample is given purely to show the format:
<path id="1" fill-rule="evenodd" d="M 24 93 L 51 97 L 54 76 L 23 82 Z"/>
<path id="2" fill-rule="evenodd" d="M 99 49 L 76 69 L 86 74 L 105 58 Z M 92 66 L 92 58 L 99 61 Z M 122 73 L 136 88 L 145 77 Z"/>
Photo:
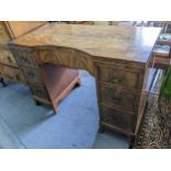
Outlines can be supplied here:
<path id="1" fill-rule="evenodd" d="M 115 126 L 129 132 L 135 131 L 136 116 L 100 105 L 101 122 Z"/>

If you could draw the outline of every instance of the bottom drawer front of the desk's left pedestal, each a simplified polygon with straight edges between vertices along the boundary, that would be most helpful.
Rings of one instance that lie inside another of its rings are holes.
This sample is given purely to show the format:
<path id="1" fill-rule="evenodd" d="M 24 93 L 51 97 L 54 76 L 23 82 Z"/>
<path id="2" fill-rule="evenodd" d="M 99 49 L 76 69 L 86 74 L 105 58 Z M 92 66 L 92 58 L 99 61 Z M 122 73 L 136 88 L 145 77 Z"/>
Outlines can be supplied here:
<path id="1" fill-rule="evenodd" d="M 29 85 L 29 86 L 30 86 L 30 89 L 31 89 L 33 96 L 50 101 L 50 97 L 49 97 L 47 92 L 44 87 L 40 87 L 40 86 L 35 86 L 35 85 Z"/>

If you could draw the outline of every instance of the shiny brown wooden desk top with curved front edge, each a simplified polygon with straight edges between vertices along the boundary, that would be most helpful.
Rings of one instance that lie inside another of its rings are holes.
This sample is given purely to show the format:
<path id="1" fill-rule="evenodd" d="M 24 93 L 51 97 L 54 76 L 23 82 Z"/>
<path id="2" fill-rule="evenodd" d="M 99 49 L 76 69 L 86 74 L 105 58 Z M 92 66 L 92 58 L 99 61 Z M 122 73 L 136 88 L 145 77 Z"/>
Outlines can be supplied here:
<path id="1" fill-rule="evenodd" d="M 159 28 L 54 23 L 45 24 L 11 43 L 65 46 L 93 56 L 147 63 L 160 31 Z"/>

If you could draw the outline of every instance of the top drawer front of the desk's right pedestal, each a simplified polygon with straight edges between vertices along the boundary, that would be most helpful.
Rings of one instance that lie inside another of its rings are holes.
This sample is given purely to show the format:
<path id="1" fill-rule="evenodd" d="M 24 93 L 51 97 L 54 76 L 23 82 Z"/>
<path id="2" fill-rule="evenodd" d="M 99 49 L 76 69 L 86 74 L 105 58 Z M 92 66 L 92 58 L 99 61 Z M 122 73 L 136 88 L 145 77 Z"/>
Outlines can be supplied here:
<path id="1" fill-rule="evenodd" d="M 139 88 L 138 71 L 97 66 L 98 81 L 121 85 L 128 88 Z"/>

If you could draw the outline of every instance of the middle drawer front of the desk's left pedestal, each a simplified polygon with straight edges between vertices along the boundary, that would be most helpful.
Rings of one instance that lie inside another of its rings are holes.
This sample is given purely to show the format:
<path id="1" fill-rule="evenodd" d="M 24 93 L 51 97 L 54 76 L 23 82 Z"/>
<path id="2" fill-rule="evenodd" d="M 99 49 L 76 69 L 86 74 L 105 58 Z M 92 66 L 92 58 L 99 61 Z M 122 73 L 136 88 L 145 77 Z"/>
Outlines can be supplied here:
<path id="1" fill-rule="evenodd" d="M 42 84 L 41 71 L 35 67 L 22 67 L 25 79 L 30 84 Z"/>

